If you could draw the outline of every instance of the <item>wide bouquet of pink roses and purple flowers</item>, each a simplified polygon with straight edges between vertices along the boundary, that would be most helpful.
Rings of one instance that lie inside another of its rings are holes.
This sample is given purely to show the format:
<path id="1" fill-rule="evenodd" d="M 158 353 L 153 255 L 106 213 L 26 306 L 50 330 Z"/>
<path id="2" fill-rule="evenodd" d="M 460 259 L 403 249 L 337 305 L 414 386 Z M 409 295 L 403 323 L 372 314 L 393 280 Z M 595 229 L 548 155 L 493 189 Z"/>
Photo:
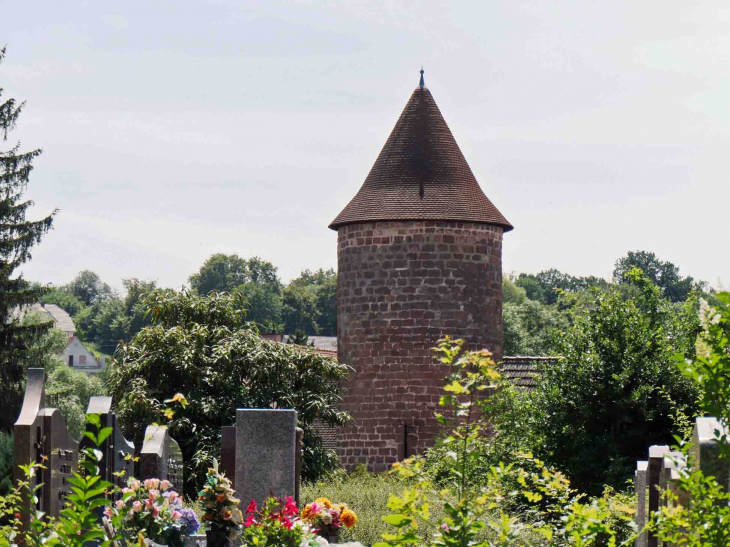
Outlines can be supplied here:
<path id="1" fill-rule="evenodd" d="M 155 543 L 184 547 L 187 537 L 200 528 L 195 512 L 183 507 L 180 495 L 170 487 L 166 480 L 130 477 L 121 499 L 104 509 L 109 518 L 122 517 L 127 544 L 136 543 L 142 534 Z"/>

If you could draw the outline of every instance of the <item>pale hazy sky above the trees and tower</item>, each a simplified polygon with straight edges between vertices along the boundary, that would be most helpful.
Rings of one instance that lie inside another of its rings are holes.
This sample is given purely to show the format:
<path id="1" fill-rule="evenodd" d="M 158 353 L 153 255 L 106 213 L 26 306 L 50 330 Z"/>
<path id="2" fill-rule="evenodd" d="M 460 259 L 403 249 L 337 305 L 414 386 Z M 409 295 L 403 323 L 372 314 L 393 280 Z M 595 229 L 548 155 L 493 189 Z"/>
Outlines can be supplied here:
<path id="1" fill-rule="evenodd" d="M 0 149 L 59 213 L 26 278 L 179 288 L 213 253 L 286 282 L 427 87 L 515 226 L 505 272 L 609 278 L 629 250 L 730 279 L 730 5 L 706 0 L 9 2 Z"/>

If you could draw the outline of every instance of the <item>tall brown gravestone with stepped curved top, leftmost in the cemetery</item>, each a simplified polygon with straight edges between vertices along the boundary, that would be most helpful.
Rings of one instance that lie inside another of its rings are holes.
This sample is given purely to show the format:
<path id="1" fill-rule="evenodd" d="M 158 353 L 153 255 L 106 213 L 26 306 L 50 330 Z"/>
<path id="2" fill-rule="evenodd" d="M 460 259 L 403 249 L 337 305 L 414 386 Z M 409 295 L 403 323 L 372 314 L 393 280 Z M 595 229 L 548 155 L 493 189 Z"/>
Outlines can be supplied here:
<path id="1" fill-rule="evenodd" d="M 56 408 L 45 407 L 45 371 L 28 369 L 25 396 L 20 416 L 13 428 L 13 478 L 25 480 L 19 465 L 43 463 L 31 481 L 31 487 L 42 484 L 36 492 L 36 509 L 58 517 L 71 491 L 68 478 L 78 466 L 79 443 L 68 432 L 66 420 Z M 30 500 L 25 499 L 26 507 Z M 24 515 L 23 519 L 27 517 Z M 24 520 L 24 525 L 27 523 Z"/>

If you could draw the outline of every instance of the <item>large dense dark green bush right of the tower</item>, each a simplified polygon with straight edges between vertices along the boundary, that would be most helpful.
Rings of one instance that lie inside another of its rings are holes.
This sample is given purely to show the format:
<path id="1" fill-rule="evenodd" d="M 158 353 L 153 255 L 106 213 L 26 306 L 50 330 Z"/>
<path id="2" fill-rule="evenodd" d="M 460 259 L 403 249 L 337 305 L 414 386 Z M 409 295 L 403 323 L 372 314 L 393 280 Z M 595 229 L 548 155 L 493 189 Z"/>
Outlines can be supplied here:
<path id="1" fill-rule="evenodd" d="M 513 407 L 529 409 L 520 416 L 526 423 L 497 424 L 505 436 L 528 430 L 533 451 L 592 495 L 603 484 L 620 488 L 647 446 L 671 442 L 678 412 L 697 412 L 698 390 L 673 360 L 694 353 L 694 308 L 664 300 L 640 270 L 631 280 L 635 299 L 615 287 L 596 291 L 556 338 L 563 358 L 542 371 L 534 391 L 513 393 Z"/>

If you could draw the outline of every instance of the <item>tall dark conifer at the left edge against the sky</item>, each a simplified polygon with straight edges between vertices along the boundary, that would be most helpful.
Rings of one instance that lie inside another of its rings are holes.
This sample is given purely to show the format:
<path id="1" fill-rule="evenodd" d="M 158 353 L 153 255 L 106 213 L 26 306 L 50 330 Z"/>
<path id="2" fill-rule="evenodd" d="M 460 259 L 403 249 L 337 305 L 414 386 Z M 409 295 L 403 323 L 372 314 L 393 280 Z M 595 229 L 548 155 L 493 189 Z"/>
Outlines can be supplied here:
<path id="1" fill-rule="evenodd" d="M 5 48 L 0 49 L 0 64 Z M 2 99 L 0 87 L 0 137 L 7 142 L 25 103 Z M 40 149 L 21 152 L 20 143 L 9 150 L 0 146 L 0 428 L 9 429 L 21 400 L 30 343 L 50 329 L 52 323 L 21 325 L 14 310 L 40 301 L 45 289 L 23 279 L 15 270 L 31 259 L 30 250 L 51 229 L 57 211 L 37 221 L 25 216 L 33 202 L 23 198 L 33 160 Z"/>

